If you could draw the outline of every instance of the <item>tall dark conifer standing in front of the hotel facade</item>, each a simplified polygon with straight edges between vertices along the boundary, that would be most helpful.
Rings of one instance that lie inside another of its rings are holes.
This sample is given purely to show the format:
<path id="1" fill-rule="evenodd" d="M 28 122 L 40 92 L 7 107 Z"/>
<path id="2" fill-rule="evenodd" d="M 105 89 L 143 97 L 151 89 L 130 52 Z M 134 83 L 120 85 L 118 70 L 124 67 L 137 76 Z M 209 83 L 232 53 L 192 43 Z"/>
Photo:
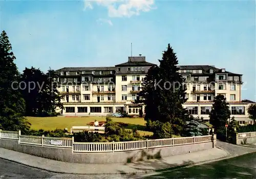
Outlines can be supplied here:
<path id="1" fill-rule="evenodd" d="M 182 107 L 187 100 L 186 89 L 184 79 L 178 72 L 176 54 L 170 44 L 159 62 L 159 66 L 148 70 L 136 103 L 145 104 L 145 120 L 170 122 L 181 132 L 188 117 Z"/>

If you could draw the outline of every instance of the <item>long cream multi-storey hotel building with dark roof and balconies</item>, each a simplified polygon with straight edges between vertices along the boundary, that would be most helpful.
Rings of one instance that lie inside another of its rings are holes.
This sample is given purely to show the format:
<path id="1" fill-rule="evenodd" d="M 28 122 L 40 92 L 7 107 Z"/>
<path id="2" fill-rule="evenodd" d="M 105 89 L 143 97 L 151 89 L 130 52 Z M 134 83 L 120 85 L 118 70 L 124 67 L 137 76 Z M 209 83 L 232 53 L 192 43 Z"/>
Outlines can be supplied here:
<path id="1" fill-rule="evenodd" d="M 66 67 L 56 70 L 59 74 L 59 92 L 63 95 L 63 115 L 104 116 L 126 111 L 139 114 L 141 104 L 133 104 L 148 69 L 155 64 L 145 57 L 129 57 L 128 61 L 115 67 Z M 184 107 L 195 117 L 207 122 L 212 100 L 223 94 L 229 103 L 231 117 L 241 125 L 252 123 L 247 107 L 254 103 L 242 100 L 242 74 L 236 74 L 209 65 L 179 66 L 186 79 L 187 102 Z"/>

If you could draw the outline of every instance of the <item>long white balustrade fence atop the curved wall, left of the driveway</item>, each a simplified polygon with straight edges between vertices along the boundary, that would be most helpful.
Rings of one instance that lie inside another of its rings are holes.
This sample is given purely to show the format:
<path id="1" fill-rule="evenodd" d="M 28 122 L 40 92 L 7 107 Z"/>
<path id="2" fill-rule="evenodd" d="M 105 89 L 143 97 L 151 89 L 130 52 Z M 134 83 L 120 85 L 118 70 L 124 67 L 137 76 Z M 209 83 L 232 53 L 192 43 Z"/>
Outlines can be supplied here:
<path id="1" fill-rule="evenodd" d="M 13 132 L 0 130 L 0 139 L 1 138 L 18 140 L 20 144 L 72 148 L 73 152 L 118 152 L 212 142 L 211 135 L 125 142 L 74 142 L 74 137 L 56 138 L 27 136 L 21 135 L 20 131 Z"/>

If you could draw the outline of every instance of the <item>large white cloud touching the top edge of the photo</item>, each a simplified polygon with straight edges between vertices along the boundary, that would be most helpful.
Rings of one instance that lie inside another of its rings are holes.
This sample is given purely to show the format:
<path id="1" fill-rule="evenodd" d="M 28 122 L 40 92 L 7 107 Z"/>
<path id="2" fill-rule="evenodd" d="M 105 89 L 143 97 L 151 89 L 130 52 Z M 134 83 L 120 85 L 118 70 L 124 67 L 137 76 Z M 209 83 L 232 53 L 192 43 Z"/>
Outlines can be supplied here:
<path id="1" fill-rule="evenodd" d="M 154 0 L 84 0 L 85 9 L 93 9 L 93 4 L 107 8 L 110 17 L 131 17 L 155 9 Z"/>

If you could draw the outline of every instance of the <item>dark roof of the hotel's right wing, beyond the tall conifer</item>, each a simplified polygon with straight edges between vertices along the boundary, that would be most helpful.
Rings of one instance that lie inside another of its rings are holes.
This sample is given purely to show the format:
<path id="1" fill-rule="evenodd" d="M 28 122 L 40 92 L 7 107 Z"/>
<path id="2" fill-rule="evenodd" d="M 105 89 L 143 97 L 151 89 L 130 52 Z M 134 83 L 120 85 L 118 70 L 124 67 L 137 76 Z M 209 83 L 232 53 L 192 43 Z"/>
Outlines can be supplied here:
<path id="1" fill-rule="evenodd" d="M 203 74 L 211 74 L 210 69 L 212 69 L 214 73 L 221 73 L 220 68 L 216 68 L 215 66 L 210 66 L 210 65 L 180 65 L 178 67 L 181 70 L 200 70 L 201 69 L 203 71 Z M 228 73 L 229 75 L 242 75 L 242 74 L 232 73 L 229 71 L 225 71 L 225 73 Z"/>

